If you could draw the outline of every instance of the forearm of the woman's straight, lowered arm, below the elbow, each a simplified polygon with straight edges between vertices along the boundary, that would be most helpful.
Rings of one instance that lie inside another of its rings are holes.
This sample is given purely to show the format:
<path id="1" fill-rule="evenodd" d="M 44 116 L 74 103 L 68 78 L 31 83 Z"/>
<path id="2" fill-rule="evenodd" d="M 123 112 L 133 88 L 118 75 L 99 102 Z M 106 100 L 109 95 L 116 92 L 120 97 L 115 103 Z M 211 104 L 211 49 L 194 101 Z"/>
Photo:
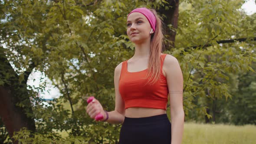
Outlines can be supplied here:
<path id="1" fill-rule="evenodd" d="M 184 131 L 184 111 L 171 115 L 171 144 L 181 144 Z"/>

